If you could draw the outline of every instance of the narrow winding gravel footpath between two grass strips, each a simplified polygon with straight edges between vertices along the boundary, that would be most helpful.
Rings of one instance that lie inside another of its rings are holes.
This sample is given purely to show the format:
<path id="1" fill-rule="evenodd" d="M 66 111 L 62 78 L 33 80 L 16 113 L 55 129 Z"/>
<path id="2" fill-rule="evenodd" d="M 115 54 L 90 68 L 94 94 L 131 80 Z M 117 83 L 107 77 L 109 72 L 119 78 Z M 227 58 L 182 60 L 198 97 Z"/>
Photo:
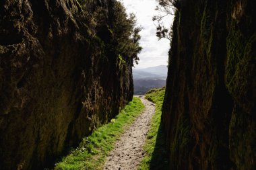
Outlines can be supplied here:
<path id="1" fill-rule="evenodd" d="M 154 103 L 148 101 L 144 96 L 139 96 L 145 110 L 137 120 L 125 131 L 115 144 L 115 148 L 106 158 L 104 169 L 110 170 L 133 170 L 137 169 L 143 158 L 143 145 L 146 141 L 150 121 L 155 112 Z"/>

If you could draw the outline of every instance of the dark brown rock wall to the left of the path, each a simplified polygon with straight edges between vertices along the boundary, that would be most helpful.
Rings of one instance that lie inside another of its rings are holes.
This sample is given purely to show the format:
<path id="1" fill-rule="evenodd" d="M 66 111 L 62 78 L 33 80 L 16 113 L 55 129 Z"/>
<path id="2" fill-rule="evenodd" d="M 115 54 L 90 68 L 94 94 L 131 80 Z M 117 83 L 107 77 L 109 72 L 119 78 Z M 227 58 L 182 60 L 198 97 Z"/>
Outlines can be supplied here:
<path id="1" fill-rule="evenodd" d="M 92 28 L 75 0 L 0 2 L 1 169 L 52 165 L 132 99 L 133 59 L 106 48 L 113 3 L 94 1 L 107 24 Z"/>

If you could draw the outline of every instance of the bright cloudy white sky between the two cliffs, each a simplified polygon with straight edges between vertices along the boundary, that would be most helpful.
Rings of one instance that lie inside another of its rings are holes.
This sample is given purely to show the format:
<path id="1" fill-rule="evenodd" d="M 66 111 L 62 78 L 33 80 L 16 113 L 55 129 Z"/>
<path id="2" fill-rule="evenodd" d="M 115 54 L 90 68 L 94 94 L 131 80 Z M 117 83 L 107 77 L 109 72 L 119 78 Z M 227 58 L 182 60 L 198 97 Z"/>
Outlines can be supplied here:
<path id="1" fill-rule="evenodd" d="M 168 50 L 170 49 L 170 41 L 161 39 L 158 41 L 156 37 L 156 22 L 152 21 L 152 17 L 158 14 L 156 11 L 156 0 L 119 0 L 127 9 L 127 13 L 135 13 L 137 25 L 143 27 L 141 30 L 140 46 L 143 50 L 138 55 L 139 65 L 135 65 L 136 69 L 154 67 L 158 65 L 168 65 Z M 170 28 L 173 17 L 170 15 L 164 19 L 166 28 Z"/>

